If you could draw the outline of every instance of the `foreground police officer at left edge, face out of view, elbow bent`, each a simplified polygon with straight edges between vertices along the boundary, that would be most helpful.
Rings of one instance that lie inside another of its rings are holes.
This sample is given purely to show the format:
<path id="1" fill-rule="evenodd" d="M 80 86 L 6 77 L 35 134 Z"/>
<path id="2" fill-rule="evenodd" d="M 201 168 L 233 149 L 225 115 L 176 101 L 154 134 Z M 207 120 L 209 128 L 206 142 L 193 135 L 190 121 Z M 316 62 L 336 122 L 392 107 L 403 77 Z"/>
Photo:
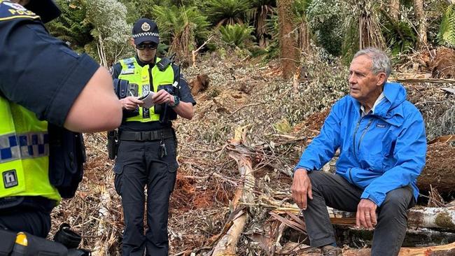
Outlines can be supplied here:
<path id="1" fill-rule="evenodd" d="M 83 150 L 73 131 L 114 129 L 122 119 L 109 72 L 46 31 L 43 22 L 58 15 L 52 0 L 0 0 L 0 229 L 13 234 L 48 235 L 50 212 L 66 192 L 55 174 L 64 175 L 66 163 L 81 166 L 69 159 Z M 59 134 L 71 139 L 52 143 Z M 56 148 L 69 155 L 52 155 Z"/>

